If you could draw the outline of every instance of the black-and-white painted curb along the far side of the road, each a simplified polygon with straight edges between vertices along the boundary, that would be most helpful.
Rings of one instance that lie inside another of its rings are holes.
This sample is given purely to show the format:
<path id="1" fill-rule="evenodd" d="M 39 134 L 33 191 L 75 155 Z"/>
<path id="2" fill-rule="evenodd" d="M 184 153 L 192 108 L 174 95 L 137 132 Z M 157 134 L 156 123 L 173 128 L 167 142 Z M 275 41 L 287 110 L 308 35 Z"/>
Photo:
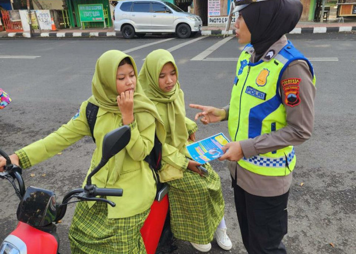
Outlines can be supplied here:
<path id="1" fill-rule="evenodd" d="M 356 26 L 319 26 L 319 27 L 297 27 L 290 31 L 289 34 L 323 34 L 323 33 L 341 33 L 356 31 Z M 208 35 L 224 35 L 225 31 L 218 30 L 201 30 L 202 36 Z M 235 30 L 228 30 L 227 35 L 234 35 Z M 2 38 L 30 38 L 29 33 L 8 33 Z M 107 37 L 122 37 L 121 32 L 78 32 L 78 33 L 64 33 L 64 32 L 47 32 L 47 33 L 34 33 L 32 38 L 107 38 Z M 0 37 L 1 38 L 1 37 Z"/>

